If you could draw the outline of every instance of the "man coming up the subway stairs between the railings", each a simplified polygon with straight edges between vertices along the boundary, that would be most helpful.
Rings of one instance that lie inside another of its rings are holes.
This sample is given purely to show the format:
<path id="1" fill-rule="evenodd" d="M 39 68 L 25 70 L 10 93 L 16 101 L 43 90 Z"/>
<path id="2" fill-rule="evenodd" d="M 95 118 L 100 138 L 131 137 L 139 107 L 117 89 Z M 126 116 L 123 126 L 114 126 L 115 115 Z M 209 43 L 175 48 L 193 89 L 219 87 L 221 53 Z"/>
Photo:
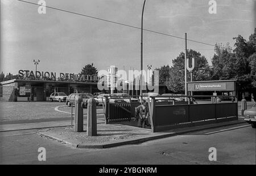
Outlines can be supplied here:
<path id="1" fill-rule="evenodd" d="M 142 105 L 139 105 L 135 109 L 135 118 L 137 118 L 138 127 L 144 128 L 145 126 L 150 126 L 148 117 L 150 117 L 150 114 L 148 112 L 148 107 L 146 106 L 146 100 L 142 100 Z"/>

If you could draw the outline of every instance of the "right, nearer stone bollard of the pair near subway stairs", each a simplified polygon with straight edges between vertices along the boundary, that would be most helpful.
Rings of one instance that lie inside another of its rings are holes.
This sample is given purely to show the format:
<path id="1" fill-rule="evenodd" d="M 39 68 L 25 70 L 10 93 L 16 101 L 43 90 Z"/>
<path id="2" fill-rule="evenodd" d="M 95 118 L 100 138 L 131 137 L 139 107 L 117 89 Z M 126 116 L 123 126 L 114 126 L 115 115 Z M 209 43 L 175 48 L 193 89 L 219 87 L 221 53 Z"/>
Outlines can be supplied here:
<path id="1" fill-rule="evenodd" d="M 97 136 L 97 112 L 94 98 L 88 100 L 87 111 L 87 136 Z"/>

